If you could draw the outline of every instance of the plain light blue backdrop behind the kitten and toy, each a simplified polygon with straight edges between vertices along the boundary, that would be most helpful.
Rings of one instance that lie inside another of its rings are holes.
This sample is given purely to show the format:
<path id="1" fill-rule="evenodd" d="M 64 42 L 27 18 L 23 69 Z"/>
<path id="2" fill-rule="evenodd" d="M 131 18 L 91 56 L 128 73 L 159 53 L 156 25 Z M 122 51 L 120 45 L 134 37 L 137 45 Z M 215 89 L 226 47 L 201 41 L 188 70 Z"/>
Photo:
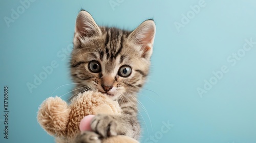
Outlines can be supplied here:
<path id="1" fill-rule="evenodd" d="M 67 93 L 62 98 L 68 99 L 71 94 L 69 49 L 81 8 L 98 25 L 129 30 L 155 19 L 151 74 L 139 94 L 141 142 L 256 142 L 256 44 L 242 50 L 245 39 L 256 41 L 256 1 L 205 0 L 196 12 L 191 10 L 200 0 L 111 2 L 118 5 L 35 1 L 24 11 L 20 1 L 0 2 L 0 142 L 54 142 L 36 114 L 47 97 Z M 17 8 L 21 14 L 8 27 L 4 18 Z M 183 14 L 190 18 L 184 21 Z M 183 25 L 179 29 L 177 22 Z M 239 60 L 230 58 L 232 53 L 239 53 Z M 52 61 L 57 67 L 30 92 L 27 83 L 33 84 Z M 213 72 L 222 66 L 228 72 L 217 79 Z M 214 85 L 205 90 L 210 79 Z M 3 134 L 4 86 L 9 88 L 8 139 Z M 206 93 L 200 96 L 198 88 Z M 164 127 L 168 122 L 171 128 Z"/>

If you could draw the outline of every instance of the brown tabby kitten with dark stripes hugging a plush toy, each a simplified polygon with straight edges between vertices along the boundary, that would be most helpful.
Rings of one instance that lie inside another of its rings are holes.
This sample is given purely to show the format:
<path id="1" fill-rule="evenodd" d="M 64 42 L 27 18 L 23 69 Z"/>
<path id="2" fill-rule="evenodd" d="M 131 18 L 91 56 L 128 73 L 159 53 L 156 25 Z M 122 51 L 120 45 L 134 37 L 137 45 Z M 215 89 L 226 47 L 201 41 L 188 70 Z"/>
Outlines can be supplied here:
<path id="1" fill-rule="evenodd" d="M 99 27 L 88 12 L 79 12 L 71 59 L 75 94 L 88 90 L 105 93 L 118 101 L 123 114 L 96 115 L 91 123 L 94 132 L 83 132 L 76 142 L 101 142 L 115 135 L 139 139 L 136 94 L 148 75 L 155 32 L 153 20 L 124 31 Z"/>

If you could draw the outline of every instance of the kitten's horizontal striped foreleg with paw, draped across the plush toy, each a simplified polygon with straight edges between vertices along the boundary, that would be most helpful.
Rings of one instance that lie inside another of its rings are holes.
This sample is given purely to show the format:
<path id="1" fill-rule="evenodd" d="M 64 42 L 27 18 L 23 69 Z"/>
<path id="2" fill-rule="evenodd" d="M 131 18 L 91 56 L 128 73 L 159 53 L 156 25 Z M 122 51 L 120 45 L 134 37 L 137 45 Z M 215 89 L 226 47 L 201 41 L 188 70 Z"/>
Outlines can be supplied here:
<path id="1" fill-rule="evenodd" d="M 115 135 L 126 135 L 138 139 L 140 135 L 140 126 L 136 115 L 98 114 L 93 118 L 91 128 L 104 138 Z"/>

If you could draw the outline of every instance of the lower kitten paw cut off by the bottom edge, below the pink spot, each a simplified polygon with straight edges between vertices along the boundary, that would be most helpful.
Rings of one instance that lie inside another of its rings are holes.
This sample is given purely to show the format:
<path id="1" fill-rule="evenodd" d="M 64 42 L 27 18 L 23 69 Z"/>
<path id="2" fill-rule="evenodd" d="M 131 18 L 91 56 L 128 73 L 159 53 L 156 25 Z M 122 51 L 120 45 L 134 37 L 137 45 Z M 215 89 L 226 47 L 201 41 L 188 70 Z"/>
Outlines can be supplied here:
<path id="1" fill-rule="evenodd" d="M 91 132 L 91 131 L 84 131 L 81 134 L 77 135 L 75 139 L 76 143 L 101 143 L 100 135 Z"/>

